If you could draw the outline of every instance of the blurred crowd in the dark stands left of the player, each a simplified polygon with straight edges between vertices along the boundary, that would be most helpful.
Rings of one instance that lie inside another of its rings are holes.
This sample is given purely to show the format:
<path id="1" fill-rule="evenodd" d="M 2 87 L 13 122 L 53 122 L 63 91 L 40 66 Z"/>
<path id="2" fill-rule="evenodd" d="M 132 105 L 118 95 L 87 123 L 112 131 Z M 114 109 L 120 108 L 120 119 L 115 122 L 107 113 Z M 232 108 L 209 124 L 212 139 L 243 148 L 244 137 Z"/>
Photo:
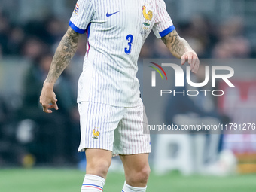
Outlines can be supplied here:
<path id="1" fill-rule="evenodd" d="M 56 17 L 13 23 L 0 12 L 0 56 L 22 56 L 33 61 L 42 53 L 54 53 L 66 29 L 67 23 Z M 81 46 L 77 53 L 82 55 L 85 49 Z"/>

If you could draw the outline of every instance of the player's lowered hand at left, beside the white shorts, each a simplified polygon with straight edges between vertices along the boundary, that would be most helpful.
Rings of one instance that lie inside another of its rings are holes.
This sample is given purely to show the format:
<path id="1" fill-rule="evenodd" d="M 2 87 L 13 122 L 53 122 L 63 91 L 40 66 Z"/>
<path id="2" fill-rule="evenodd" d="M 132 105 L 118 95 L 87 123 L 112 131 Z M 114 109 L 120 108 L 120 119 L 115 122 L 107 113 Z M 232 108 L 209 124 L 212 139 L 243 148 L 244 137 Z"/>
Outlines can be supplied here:
<path id="1" fill-rule="evenodd" d="M 43 111 L 46 113 L 52 113 L 51 108 L 58 110 L 56 95 L 53 92 L 53 84 L 44 83 L 44 87 L 41 90 L 40 103 L 43 107 Z"/>

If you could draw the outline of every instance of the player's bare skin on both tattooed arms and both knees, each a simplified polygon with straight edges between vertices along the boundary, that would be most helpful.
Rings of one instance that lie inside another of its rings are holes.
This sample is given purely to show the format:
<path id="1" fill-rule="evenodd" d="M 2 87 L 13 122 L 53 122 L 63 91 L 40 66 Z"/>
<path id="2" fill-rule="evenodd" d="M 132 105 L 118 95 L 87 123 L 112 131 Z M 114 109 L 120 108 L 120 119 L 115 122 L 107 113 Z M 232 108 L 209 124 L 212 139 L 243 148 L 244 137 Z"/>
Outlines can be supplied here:
<path id="1" fill-rule="evenodd" d="M 52 108 L 58 110 L 56 95 L 53 86 L 59 75 L 69 65 L 78 48 L 81 34 L 73 31 L 70 27 L 63 36 L 56 49 L 49 73 L 41 91 L 40 103 L 43 111 L 52 113 Z M 192 72 L 197 72 L 199 59 L 197 53 L 192 50 L 187 41 L 180 38 L 174 30 L 162 38 L 170 52 L 181 59 L 181 65 L 187 61 Z M 111 164 L 112 152 L 102 149 L 87 148 L 87 174 L 98 175 L 106 178 L 108 168 Z M 133 187 L 146 187 L 150 168 L 148 165 L 148 154 L 120 155 L 125 170 L 126 183 Z"/>

